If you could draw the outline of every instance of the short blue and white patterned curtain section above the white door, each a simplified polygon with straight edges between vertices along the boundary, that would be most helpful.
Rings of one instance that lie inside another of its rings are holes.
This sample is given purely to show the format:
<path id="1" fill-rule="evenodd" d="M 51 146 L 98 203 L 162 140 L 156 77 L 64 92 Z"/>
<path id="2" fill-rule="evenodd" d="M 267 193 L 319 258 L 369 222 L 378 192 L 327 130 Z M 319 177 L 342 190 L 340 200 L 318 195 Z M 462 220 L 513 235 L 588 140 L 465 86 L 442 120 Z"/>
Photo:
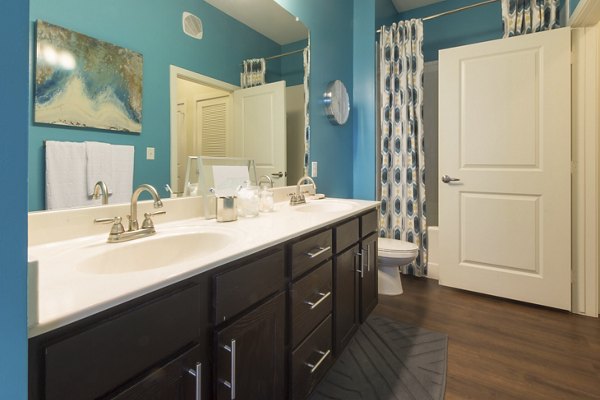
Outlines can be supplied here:
<path id="1" fill-rule="evenodd" d="M 560 28 L 560 0 L 502 0 L 504 37 Z"/>

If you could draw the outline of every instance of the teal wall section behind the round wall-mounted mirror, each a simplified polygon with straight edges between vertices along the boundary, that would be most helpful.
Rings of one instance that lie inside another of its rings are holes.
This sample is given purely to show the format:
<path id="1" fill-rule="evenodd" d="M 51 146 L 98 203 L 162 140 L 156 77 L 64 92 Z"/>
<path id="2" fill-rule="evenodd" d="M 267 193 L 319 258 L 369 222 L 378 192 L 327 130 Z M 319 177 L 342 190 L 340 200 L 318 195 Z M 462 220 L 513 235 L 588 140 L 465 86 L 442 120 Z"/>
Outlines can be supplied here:
<path id="1" fill-rule="evenodd" d="M 299 17 L 310 31 L 310 158 L 319 163 L 319 176 L 315 182 L 319 191 L 328 196 L 352 197 L 353 117 L 343 126 L 331 125 L 324 115 L 321 99 L 327 84 L 339 79 L 346 85 L 353 101 L 353 33 L 350 22 L 353 20 L 353 7 L 348 6 L 348 0 L 276 1 Z"/>

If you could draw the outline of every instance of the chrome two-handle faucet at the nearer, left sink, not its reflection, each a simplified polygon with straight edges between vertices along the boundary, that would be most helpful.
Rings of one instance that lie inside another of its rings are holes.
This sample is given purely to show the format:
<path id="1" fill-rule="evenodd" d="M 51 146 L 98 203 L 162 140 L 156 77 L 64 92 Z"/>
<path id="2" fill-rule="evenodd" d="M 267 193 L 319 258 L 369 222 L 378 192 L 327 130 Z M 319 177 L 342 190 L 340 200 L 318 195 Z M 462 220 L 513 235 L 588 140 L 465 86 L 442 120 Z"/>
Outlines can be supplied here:
<path id="1" fill-rule="evenodd" d="M 161 208 L 163 206 L 158 192 L 152 185 L 143 184 L 138 186 L 131 195 L 130 214 L 127 216 L 127 218 L 129 218 L 129 229 L 127 231 L 125 231 L 123 224 L 121 224 L 121 217 L 97 218 L 94 220 L 95 223 L 113 224 L 108 235 L 108 243 L 126 242 L 128 240 L 139 239 L 156 233 L 156 230 L 154 229 L 154 223 L 152 222 L 152 216 L 166 214 L 166 212 L 157 211 L 153 213 L 145 213 L 145 219 L 142 223 L 142 228 L 140 229 L 137 221 L 137 202 L 140 194 L 144 191 L 147 191 L 150 193 L 150 195 L 152 195 L 152 199 L 154 200 L 154 208 Z"/>

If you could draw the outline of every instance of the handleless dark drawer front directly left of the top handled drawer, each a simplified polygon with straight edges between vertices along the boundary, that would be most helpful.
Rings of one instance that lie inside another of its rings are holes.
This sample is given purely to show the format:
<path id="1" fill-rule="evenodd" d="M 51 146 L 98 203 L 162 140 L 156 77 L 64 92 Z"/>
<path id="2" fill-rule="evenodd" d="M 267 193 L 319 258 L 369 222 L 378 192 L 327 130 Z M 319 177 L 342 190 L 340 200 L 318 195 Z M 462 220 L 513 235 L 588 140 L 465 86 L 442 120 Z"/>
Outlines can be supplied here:
<path id="1" fill-rule="evenodd" d="M 215 324 L 284 288 L 283 250 L 215 277 Z"/>

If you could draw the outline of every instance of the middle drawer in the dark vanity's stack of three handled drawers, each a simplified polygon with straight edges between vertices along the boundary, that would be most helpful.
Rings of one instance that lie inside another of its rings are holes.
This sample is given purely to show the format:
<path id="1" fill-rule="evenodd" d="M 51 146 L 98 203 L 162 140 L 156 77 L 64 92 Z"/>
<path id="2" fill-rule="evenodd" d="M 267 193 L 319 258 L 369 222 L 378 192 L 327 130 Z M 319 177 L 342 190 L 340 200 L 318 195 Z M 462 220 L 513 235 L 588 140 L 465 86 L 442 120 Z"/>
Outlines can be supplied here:
<path id="1" fill-rule="evenodd" d="M 332 310 L 332 262 L 292 285 L 292 348 Z"/>

